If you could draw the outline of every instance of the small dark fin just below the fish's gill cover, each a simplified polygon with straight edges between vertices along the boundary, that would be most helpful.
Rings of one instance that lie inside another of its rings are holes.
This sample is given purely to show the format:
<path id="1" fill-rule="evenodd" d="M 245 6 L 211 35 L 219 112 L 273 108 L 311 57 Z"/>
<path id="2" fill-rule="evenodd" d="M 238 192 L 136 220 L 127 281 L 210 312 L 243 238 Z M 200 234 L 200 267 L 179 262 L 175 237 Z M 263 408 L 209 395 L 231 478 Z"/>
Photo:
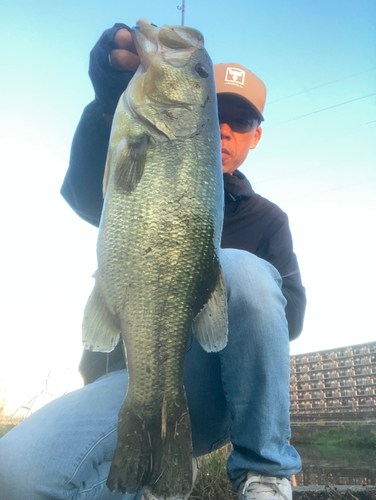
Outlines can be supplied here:
<path id="1" fill-rule="evenodd" d="M 117 149 L 115 183 L 131 193 L 144 173 L 149 137 L 146 133 L 122 141 Z"/>

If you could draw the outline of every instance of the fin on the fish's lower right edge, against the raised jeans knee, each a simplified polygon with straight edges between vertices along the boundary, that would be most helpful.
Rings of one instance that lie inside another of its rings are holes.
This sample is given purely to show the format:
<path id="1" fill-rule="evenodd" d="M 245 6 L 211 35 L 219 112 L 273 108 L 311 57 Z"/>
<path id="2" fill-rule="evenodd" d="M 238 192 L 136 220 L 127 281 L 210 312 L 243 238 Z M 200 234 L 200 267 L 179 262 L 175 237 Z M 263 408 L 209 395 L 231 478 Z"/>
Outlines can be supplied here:
<path id="1" fill-rule="evenodd" d="M 220 268 L 216 288 L 192 324 L 197 342 L 207 352 L 221 351 L 227 344 L 227 294 Z"/>

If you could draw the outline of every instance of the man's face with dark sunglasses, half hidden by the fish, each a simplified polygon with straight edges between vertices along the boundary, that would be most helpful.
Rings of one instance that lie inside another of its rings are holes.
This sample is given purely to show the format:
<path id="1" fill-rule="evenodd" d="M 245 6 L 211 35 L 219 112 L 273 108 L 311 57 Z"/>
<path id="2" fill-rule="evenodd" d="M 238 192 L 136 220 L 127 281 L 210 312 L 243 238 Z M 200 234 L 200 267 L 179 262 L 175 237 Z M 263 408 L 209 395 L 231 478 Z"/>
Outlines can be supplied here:
<path id="1" fill-rule="evenodd" d="M 249 150 L 257 146 L 262 129 L 255 113 L 243 99 L 231 94 L 219 94 L 217 97 L 222 170 L 232 175 L 244 162 Z"/>

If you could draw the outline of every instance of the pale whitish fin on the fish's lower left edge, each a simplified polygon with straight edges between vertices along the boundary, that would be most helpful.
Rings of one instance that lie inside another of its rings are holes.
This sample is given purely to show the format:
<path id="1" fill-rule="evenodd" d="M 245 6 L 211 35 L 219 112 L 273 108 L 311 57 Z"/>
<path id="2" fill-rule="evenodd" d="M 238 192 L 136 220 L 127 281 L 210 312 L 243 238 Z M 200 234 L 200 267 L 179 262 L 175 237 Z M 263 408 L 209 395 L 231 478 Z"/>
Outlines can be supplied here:
<path id="1" fill-rule="evenodd" d="M 107 308 L 97 285 L 87 301 L 82 322 L 82 343 L 89 351 L 111 352 L 120 339 L 120 323 Z"/>

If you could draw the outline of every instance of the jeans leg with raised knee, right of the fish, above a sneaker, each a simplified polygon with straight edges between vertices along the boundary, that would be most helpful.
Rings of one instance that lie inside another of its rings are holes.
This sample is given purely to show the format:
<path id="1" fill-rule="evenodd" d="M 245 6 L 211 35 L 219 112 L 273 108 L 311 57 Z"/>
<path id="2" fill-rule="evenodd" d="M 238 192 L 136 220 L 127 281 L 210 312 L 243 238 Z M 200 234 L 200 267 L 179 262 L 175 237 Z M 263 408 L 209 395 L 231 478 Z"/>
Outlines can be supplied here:
<path id="1" fill-rule="evenodd" d="M 242 250 L 221 250 L 220 258 L 229 340 L 219 358 L 234 446 L 227 472 L 238 490 L 250 477 L 289 479 L 301 470 L 301 460 L 288 444 L 290 350 L 281 276 Z"/>

